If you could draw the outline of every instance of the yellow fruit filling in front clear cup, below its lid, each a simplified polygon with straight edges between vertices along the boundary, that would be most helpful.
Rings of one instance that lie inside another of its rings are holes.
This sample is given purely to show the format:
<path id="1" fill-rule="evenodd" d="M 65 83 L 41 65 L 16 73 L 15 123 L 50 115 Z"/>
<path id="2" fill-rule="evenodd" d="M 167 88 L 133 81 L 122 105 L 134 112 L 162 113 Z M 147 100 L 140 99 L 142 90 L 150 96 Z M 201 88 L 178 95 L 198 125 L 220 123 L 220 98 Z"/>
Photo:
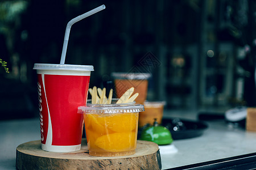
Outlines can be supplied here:
<path id="1" fill-rule="evenodd" d="M 135 153 L 139 113 L 84 113 L 89 154 L 123 156 Z"/>

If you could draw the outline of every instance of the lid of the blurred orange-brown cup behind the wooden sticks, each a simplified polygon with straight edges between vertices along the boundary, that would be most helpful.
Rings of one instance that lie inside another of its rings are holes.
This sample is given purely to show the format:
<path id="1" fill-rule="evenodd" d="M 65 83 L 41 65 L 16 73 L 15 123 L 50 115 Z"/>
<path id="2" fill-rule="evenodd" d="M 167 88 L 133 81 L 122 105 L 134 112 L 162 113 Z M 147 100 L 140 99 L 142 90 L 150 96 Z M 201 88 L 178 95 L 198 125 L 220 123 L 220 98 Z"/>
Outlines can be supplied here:
<path id="1" fill-rule="evenodd" d="M 115 79 L 137 79 L 143 80 L 151 77 L 151 73 L 112 73 L 111 74 Z"/>

